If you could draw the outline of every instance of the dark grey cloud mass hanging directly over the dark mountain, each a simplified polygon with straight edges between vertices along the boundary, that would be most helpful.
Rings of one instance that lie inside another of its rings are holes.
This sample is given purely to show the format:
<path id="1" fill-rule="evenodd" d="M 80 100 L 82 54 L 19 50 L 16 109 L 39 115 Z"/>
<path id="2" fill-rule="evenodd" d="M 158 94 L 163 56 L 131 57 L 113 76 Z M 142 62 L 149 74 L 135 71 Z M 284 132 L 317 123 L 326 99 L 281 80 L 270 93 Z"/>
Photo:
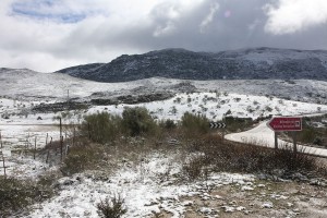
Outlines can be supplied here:
<path id="1" fill-rule="evenodd" d="M 217 2 L 219 9 L 205 32 L 201 33 L 201 23 L 210 13 L 213 2 Z M 268 16 L 264 5 L 267 2 L 269 1 L 207 0 L 179 20 L 171 21 L 175 31 L 170 35 L 164 35 L 162 37 L 153 36 L 157 25 L 170 22 L 168 17 L 156 16 L 157 13 L 155 13 L 153 14 L 154 23 L 152 26 L 144 28 L 134 26 L 134 28 L 123 32 L 118 38 L 125 45 L 143 50 L 183 47 L 195 51 L 219 51 L 262 46 L 327 49 L 327 28 L 323 24 L 288 35 L 266 33 L 265 25 Z M 230 12 L 229 17 L 225 16 L 226 12 Z"/>

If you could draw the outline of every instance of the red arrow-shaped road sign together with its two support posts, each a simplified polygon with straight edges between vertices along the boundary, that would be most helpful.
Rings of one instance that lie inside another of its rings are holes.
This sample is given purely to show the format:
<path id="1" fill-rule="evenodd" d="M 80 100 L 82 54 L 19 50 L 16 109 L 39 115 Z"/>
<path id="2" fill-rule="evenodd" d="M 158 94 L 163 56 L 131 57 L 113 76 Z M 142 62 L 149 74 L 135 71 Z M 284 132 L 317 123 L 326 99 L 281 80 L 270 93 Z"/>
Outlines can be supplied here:
<path id="1" fill-rule="evenodd" d="M 302 118 L 299 117 L 275 117 L 269 122 L 267 122 L 267 126 L 270 128 L 275 132 L 275 148 L 278 148 L 278 132 L 293 132 L 293 152 L 296 154 L 296 131 L 302 131 Z"/>

